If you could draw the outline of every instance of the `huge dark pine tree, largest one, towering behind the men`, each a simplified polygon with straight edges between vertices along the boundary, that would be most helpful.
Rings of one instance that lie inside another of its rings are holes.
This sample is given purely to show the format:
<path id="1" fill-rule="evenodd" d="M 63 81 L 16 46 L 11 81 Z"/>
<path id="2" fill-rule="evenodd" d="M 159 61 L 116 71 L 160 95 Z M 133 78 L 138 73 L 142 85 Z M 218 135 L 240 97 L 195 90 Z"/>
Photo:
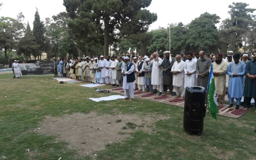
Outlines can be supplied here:
<path id="1" fill-rule="evenodd" d="M 71 18 L 68 25 L 79 42 L 104 35 L 104 56 L 117 35 L 143 33 L 157 19 L 156 14 L 141 10 L 151 0 L 64 0 L 63 4 Z"/>

